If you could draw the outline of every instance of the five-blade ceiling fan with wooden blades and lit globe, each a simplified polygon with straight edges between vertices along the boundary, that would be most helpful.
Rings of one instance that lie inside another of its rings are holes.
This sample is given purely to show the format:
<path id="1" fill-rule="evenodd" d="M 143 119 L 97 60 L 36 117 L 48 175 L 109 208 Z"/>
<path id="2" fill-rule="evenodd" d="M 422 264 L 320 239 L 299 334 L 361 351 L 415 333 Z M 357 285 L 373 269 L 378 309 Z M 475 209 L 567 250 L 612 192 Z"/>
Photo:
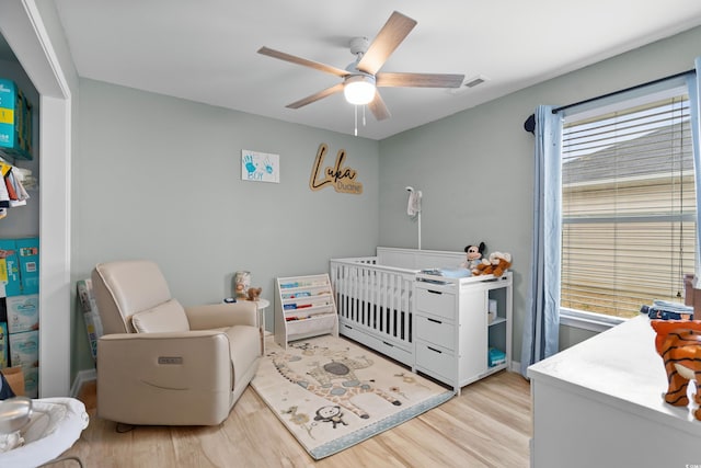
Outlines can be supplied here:
<path id="1" fill-rule="evenodd" d="M 354 37 L 350 41 L 350 53 L 356 56 L 356 60 L 345 69 L 307 60 L 268 47 L 261 47 L 258 54 L 343 78 L 343 82 L 292 102 L 287 107 L 299 109 L 343 91 L 348 102 L 356 105 L 367 104 L 375 118 L 382 121 L 390 116 L 390 112 L 377 88 L 459 88 L 464 79 L 463 75 L 379 72 L 414 26 L 416 26 L 415 20 L 397 11 L 393 12 L 372 43 L 369 43 L 366 37 Z"/>

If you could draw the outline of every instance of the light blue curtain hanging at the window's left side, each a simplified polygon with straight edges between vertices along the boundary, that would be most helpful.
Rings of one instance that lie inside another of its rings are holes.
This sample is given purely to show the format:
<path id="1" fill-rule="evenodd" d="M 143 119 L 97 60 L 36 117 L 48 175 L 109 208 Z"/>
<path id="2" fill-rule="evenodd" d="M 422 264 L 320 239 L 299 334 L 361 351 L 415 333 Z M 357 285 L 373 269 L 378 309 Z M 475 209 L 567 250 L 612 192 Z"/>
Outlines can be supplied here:
<path id="1" fill-rule="evenodd" d="M 535 134 L 533 244 L 521 347 L 524 376 L 528 366 L 558 352 L 560 332 L 560 114 L 553 114 L 551 106 L 539 106 L 536 110 Z"/>

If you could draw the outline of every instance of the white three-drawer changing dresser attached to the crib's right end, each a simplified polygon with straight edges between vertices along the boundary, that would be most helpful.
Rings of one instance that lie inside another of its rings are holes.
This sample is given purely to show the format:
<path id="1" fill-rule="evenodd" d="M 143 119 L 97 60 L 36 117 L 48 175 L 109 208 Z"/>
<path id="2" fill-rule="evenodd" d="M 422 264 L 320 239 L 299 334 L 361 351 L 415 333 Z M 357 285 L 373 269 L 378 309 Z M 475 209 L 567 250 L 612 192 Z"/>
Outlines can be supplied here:
<path id="1" fill-rule="evenodd" d="M 507 367 L 512 356 L 510 272 L 499 278 L 418 274 L 416 279 L 415 370 L 460 393 L 461 387 Z M 490 363 L 490 349 L 504 354 L 502 362 Z"/>

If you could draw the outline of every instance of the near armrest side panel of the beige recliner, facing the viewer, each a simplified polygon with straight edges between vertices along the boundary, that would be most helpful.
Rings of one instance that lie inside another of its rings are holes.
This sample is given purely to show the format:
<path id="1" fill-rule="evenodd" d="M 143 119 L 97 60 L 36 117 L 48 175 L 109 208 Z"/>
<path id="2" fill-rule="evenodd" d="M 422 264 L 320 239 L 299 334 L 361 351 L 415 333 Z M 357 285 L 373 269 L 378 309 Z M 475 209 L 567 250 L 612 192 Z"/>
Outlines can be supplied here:
<path id="1" fill-rule="evenodd" d="M 233 373 L 220 331 L 115 333 L 97 341 L 97 412 L 129 424 L 218 424 Z"/>

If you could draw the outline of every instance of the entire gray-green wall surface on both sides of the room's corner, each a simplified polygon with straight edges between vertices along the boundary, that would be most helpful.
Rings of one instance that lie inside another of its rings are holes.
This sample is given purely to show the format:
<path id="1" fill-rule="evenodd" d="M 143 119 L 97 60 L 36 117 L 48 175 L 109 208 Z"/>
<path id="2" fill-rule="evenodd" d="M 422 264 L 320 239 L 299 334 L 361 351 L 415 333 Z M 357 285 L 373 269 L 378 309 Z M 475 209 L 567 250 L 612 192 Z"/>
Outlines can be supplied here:
<path id="1" fill-rule="evenodd" d="M 547 50 L 543 50 L 547 54 Z M 326 271 L 334 256 L 416 247 L 406 192 L 424 192 L 422 247 L 485 241 L 514 255 L 514 351 L 520 358 L 530 262 L 533 138 L 524 121 L 561 105 L 691 69 L 701 28 L 415 128 L 380 142 L 80 81 L 73 155 L 72 275 L 97 262 L 156 260 L 185 305 L 231 294 L 249 270 L 273 298 L 276 276 Z M 369 123 L 371 125 L 371 121 Z M 320 144 L 347 150 L 361 196 L 309 190 Z M 241 149 L 280 155 L 280 184 L 240 179 Z M 272 309 L 266 318 L 273 323 Z M 590 333 L 563 327 L 562 347 Z M 74 370 L 92 368 L 84 336 Z"/>

